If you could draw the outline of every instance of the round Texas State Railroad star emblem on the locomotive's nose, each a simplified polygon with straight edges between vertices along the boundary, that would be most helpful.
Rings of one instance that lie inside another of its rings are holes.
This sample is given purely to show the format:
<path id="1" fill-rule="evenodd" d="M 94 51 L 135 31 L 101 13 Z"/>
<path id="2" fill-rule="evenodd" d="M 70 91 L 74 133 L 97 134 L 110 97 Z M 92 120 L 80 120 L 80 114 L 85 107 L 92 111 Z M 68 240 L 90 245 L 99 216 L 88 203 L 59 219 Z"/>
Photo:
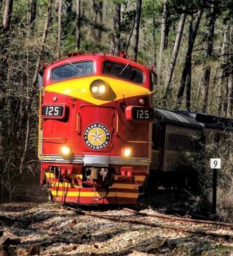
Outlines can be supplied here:
<path id="1" fill-rule="evenodd" d="M 110 131 L 102 123 L 91 123 L 83 132 L 83 141 L 90 149 L 101 150 L 110 142 Z"/>

